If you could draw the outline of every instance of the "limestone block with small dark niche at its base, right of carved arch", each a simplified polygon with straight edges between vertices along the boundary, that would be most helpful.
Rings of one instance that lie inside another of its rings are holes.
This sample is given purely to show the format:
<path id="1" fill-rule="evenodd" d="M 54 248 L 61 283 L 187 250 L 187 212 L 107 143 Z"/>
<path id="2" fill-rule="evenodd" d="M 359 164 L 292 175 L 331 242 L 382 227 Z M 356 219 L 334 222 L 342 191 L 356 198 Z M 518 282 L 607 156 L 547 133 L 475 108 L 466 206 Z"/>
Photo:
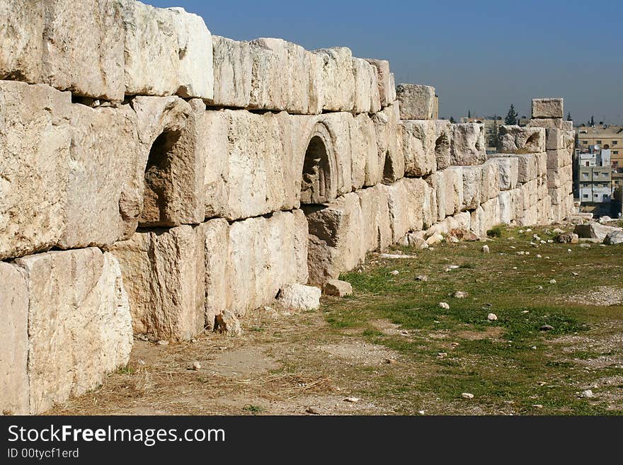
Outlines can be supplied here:
<path id="1" fill-rule="evenodd" d="M 377 133 L 379 159 L 383 160 L 383 182 L 393 183 L 404 176 L 404 155 L 397 103 L 372 115 Z"/>

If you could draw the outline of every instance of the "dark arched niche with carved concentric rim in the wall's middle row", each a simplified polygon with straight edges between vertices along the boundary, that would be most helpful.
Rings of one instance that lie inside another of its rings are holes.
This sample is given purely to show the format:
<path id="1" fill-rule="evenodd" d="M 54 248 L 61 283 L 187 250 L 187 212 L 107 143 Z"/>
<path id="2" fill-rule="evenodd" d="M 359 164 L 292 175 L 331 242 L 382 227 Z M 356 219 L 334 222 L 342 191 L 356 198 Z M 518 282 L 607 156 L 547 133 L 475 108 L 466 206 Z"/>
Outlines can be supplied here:
<path id="1" fill-rule="evenodd" d="M 301 203 L 332 202 L 338 194 L 338 168 L 333 138 L 324 123 L 317 123 L 307 139 L 301 179 Z"/>

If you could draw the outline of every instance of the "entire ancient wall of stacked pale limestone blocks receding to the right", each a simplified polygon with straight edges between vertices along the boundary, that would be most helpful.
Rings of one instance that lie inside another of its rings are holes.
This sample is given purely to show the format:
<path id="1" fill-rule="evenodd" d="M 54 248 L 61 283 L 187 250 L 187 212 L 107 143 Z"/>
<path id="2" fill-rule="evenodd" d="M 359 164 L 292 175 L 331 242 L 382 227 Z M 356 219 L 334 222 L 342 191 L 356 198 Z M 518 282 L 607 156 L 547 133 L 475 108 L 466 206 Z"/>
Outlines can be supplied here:
<path id="1" fill-rule="evenodd" d="M 0 411 L 322 287 L 394 243 L 573 209 L 562 99 L 502 127 L 345 47 L 213 36 L 134 0 L 0 0 Z M 224 323 L 225 322 L 225 323 Z"/>

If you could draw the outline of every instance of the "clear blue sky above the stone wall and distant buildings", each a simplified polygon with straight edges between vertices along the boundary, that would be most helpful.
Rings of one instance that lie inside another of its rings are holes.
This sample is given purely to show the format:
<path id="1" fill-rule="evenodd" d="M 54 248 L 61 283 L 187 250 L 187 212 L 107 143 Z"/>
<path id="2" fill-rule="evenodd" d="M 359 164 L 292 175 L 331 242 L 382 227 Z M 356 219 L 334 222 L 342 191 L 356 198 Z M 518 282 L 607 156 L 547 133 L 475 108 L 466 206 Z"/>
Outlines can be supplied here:
<path id="1" fill-rule="evenodd" d="M 530 116 L 564 97 L 573 120 L 623 124 L 623 0 L 147 0 L 200 14 L 212 33 L 345 45 L 389 59 L 396 82 L 429 84 L 440 116 Z"/>

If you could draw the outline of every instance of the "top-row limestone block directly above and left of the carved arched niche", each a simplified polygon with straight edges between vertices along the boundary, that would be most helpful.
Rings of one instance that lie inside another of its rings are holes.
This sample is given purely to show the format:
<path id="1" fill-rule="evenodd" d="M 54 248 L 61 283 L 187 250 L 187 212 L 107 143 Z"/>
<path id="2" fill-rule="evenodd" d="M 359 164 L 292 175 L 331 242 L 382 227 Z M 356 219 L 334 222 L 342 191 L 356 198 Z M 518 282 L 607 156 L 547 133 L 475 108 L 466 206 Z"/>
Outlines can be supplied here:
<path id="1" fill-rule="evenodd" d="M 261 38 L 251 41 L 250 45 L 253 56 L 251 108 L 304 115 L 321 113 L 321 57 L 282 39 Z"/>

